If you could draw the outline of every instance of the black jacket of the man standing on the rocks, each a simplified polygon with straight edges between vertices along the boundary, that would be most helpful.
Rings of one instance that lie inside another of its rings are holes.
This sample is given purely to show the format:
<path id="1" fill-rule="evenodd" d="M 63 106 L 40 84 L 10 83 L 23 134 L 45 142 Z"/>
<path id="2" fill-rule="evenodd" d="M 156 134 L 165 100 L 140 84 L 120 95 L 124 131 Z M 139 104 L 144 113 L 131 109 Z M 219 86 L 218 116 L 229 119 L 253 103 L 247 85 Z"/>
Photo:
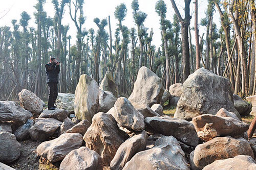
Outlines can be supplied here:
<path id="1" fill-rule="evenodd" d="M 46 64 L 46 82 L 57 82 L 58 83 L 58 74 L 59 74 L 59 65 L 56 63 L 47 63 Z"/>

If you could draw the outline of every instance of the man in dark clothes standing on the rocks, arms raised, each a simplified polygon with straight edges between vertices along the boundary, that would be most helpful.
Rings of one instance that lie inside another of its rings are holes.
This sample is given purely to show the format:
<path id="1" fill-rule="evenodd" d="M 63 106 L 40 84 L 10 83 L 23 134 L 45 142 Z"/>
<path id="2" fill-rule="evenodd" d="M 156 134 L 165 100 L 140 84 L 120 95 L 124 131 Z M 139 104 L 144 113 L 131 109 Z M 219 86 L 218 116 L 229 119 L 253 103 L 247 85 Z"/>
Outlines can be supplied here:
<path id="1" fill-rule="evenodd" d="M 50 62 L 46 64 L 46 77 L 49 90 L 48 96 L 48 109 L 55 110 L 54 103 L 58 96 L 58 74 L 59 74 L 59 61 L 54 57 L 50 57 Z"/>

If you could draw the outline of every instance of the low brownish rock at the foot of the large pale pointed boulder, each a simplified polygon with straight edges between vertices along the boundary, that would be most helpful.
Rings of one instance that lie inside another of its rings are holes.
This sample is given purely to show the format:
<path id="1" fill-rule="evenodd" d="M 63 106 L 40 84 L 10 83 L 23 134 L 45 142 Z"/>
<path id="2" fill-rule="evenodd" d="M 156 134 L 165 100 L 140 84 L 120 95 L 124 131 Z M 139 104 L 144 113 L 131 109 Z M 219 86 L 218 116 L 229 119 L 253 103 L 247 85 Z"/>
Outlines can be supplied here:
<path id="1" fill-rule="evenodd" d="M 131 102 L 131 103 L 132 103 L 132 105 L 134 106 L 134 108 L 136 110 L 138 110 L 140 113 L 143 114 L 144 118 L 153 117 L 153 116 L 160 116 L 157 112 L 153 111 L 146 104 L 139 104 L 139 103 L 136 103 L 136 102 Z M 155 105 L 159 105 L 159 104 L 155 104 Z"/>

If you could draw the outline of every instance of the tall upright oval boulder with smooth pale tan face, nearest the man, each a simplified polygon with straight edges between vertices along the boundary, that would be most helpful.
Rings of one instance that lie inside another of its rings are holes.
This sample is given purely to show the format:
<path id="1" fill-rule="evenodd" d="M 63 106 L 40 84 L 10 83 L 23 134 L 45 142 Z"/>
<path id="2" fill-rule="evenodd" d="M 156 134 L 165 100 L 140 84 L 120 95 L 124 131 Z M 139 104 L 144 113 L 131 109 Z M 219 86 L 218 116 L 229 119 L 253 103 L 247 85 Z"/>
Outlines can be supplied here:
<path id="1" fill-rule="evenodd" d="M 75 91 L 75 115 L 78 120 L 92 122 L 94 114 L 99 111 L 99 86 L 87 75 L 81 75 Z"/>

